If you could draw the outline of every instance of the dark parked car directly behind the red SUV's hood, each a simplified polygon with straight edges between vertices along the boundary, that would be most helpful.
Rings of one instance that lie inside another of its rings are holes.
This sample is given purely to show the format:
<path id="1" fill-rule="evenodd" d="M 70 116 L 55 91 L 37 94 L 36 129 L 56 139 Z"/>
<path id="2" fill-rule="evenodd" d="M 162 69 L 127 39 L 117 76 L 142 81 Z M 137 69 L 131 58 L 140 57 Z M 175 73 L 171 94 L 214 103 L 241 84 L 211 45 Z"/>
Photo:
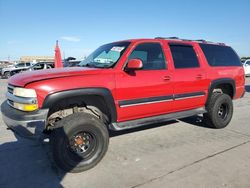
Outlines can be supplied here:
<path id="1" fill-rule="evenodd" d="M 51 69 L 54 68 L 54 62 L 39 62 L 31 67 L 22 67 L 22 68 L 16 68 L 12 71 L 10 71 L 10 76 L 13 76 L 17 73 L 21 73 L 24 71 L 35 71 L 35 70 L 43 70 L 43 69 Z"/>

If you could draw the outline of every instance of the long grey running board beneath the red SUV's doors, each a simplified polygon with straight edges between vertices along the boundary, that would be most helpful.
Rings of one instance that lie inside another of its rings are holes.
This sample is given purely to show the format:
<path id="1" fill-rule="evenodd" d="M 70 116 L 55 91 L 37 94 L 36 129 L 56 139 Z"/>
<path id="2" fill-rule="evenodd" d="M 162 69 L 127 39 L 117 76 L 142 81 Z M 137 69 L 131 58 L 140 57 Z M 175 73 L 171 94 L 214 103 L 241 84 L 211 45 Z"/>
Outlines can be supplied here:
<path id="1" fill-rule="evenodd" d="M 171 114 L 164 114 L 160 116 L 147 117 L 147 118 L 130 120 L 130 121 L 125 121 L 125 122 L 120 122 L 120 123 L 112 123 L 109 125 L 109 128 L 114 131 L 120 131 L 120 130 L 125 130 L 125 129 L 141 127 L 141 126 L 145 126 L 149 124 L 185 118 L 185 117 L 194 116 L 197 114 L 203 114 L 206 112 L 207 111 L 205 110 L 205 108 L 196 108 L 193 110 L 186 110 L 186 111 L 175 112 Z"/>

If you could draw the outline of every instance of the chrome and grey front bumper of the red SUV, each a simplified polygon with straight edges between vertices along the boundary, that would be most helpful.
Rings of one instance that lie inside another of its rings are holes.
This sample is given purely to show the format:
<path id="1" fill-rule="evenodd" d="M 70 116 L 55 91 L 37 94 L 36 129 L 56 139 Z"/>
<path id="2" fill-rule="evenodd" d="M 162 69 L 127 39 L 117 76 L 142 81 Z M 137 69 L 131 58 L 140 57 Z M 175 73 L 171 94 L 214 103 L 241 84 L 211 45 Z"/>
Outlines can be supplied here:
<path id="1" fill-rule="evenodd" d="M 18 135 L 26 138 L 38 138 L 42 135 L 48 111 L 48 109 L 40 109 L 34 112 L 23 112 L 8 105 L 7 101 L 1 105 L 5 124 Z"/>

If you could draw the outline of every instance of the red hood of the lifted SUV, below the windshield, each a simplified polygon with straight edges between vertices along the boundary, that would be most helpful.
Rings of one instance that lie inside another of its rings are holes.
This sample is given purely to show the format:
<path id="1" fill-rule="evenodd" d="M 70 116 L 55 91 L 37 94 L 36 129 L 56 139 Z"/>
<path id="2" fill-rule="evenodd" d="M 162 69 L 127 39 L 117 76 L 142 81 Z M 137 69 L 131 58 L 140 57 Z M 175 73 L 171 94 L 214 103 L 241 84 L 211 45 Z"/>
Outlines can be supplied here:
<path id="1" fill-rule="evenodd" d="M 49 70 L 36 70 L 36 71 L 25 71 L 24 73 L 19 73 L 10 77 L 9 84 L 14 86 L 24 87 L 28 83 L 59 78 L 59 77 L 69 77 L 69 76 L 80 76 L 83 74 L 97 74 L 101 69 L 95 68 L 82 68 L 82 67 L 73 67 L 73 68 L 55 68 Z"/>

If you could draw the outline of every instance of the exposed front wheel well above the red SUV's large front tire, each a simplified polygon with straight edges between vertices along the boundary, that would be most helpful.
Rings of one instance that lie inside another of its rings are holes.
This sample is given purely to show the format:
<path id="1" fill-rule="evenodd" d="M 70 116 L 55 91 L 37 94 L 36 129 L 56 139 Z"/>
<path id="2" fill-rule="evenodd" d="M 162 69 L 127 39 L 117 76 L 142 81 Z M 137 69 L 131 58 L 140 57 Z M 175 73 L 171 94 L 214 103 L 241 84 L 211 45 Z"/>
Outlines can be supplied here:
<path id="1" fill-rule="evenodd" d="M 63 110 L 67 110 L 67 112 L 63 112 Z M 58 117 L 55 120 L 56 122 L 62 119 L 62 117 L 75 112 L 91 113 L 102 118 L 104 123 L 109 123 L 111 121 L 111 113 L 108 109 L 108 104 L 106 104 L 103 97 L 97 95 L 89 95 L 83 97 L 68 97 L 63 100 L 57 101 L 56 104 L 49 109 L 48 123 L 50 123 L 49 120 L 51 116 L 54 116 L 53 118 L 56 118 L 57 115 L 61 115 L 61 117 Z"/>

